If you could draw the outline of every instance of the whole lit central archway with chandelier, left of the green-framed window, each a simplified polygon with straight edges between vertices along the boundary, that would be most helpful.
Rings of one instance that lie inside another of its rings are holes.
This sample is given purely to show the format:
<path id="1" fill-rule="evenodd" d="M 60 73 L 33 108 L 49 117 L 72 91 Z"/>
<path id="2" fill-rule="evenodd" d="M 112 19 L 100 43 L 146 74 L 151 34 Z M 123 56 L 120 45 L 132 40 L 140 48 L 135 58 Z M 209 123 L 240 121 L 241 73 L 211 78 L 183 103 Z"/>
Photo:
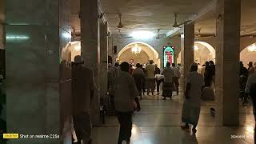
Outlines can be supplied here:
<path id="1" fill-rule="evenodd" d="M 141 63 L 146 64 L 153 60 L 158 66 L 161 65 L 158 52 L 144 42 L 132 42 L 122 48 L 116 59 L 118 62 Z"/>

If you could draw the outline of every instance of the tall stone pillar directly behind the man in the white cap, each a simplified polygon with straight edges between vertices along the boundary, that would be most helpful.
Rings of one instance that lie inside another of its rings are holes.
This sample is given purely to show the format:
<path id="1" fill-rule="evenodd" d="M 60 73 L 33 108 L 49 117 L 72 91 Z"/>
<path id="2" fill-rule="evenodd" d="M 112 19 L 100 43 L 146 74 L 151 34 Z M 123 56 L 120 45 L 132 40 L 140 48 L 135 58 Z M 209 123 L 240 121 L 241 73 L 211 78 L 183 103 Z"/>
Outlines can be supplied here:
<path id="1" fill-rule="evenodd" d="M 94 72 L 94 80 L 98 85 L 98 65 L 100 62 L 100 50 L 98 43 L 98 1 L 80 1 L 81 18 L 81 55 L 85 65 Z M 94 102 L 91 107 L 91 120 L 94 125 L 99 124 L 99 104 L 100 98 L 98 90 L 94 93 Z"/>

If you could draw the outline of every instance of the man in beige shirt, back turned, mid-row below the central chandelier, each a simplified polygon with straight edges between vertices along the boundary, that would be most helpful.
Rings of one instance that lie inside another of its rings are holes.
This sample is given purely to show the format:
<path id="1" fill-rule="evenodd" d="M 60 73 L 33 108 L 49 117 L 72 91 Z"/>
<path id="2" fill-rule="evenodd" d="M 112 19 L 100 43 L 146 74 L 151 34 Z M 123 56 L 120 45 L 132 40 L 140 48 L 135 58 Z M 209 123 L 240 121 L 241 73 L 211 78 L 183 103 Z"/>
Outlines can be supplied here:
<path id="1" fill-rule="evenodd" d="M 146 84 L 147 84 L 147 94 L 150 94 L 150 90 L 152 95 L 154 95 L 154 87 L 155 87 L 155 81 L 154 81 L 154 65 L 153 61 L 150 60 L 150 64 L 146 66 Z"/>

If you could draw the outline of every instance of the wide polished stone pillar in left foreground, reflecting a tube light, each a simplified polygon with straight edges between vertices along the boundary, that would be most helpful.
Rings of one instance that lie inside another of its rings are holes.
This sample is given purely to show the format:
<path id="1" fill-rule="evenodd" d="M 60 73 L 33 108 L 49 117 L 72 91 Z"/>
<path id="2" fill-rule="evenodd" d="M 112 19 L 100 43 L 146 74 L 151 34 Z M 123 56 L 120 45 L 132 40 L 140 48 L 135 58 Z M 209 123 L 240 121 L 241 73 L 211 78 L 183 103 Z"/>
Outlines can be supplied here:
<path id="1" fill-rule="evenodd" d="M 7 143 L 71 143 L 70 2 L 5 2 L 7 132 L 60 136 Z"/>

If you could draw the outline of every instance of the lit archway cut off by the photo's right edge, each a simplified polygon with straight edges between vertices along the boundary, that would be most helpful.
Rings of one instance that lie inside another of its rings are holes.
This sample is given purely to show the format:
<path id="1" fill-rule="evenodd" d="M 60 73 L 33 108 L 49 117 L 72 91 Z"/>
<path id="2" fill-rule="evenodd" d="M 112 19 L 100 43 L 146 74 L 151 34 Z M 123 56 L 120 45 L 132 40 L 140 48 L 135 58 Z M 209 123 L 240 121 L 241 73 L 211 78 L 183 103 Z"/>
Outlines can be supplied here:
<path id="1" fill-rule="evenodd" d="M 256 62 L 256 43 L 247 46 L 240 52 L 240 61 L 242 61 L 246 67 L 249 62 Z"/>

